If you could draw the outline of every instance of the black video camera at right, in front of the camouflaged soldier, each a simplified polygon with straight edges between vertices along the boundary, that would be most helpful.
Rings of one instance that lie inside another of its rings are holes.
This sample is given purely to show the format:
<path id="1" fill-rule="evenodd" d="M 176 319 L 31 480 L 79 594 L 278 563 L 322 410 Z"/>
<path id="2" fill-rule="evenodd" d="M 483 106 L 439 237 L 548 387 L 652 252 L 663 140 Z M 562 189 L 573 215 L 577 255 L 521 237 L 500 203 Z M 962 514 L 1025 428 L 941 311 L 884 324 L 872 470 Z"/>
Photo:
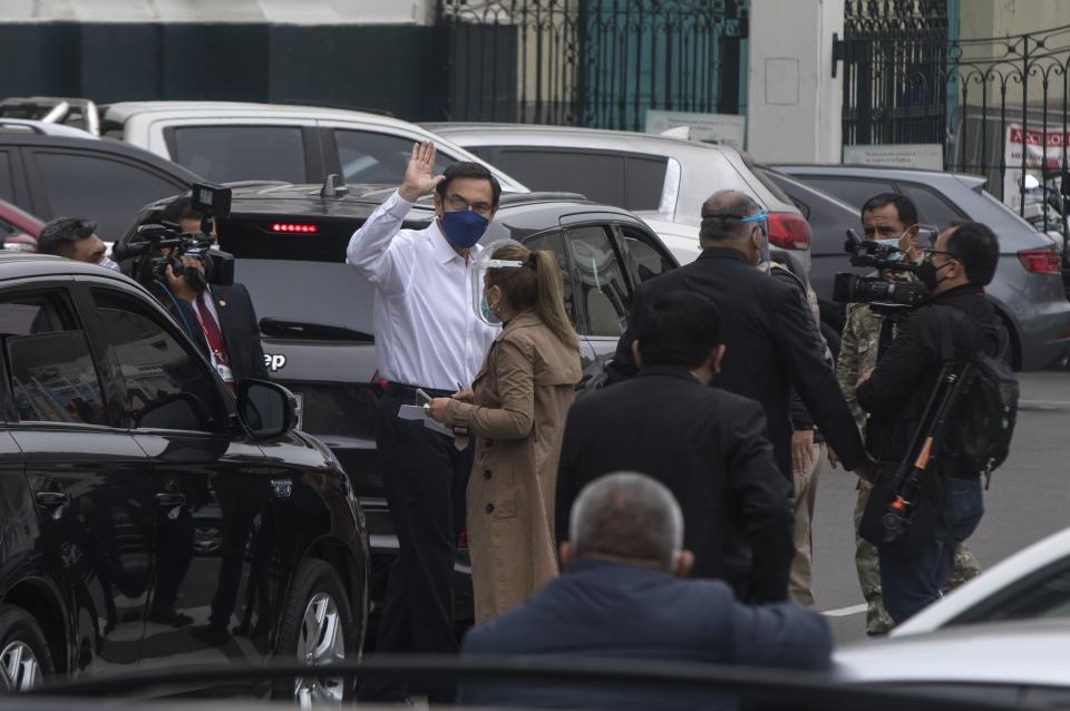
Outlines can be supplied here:
<path id="1" fill-rule="evenodd" d="M 852 266 L 917 273 L 917 265 L 907 262 L 903 252 L 892 245 L 863 240 L 854 230 L 847 231 L 844 250 L 850 254 Z M 833 284 L 833 301 L 844 303 L 888 304 L 909 309 L 928 296 L 928 290 L 917 281 L 889 281 L 883 276 L 858 276 L 850 272 L 836 274 Z"/>

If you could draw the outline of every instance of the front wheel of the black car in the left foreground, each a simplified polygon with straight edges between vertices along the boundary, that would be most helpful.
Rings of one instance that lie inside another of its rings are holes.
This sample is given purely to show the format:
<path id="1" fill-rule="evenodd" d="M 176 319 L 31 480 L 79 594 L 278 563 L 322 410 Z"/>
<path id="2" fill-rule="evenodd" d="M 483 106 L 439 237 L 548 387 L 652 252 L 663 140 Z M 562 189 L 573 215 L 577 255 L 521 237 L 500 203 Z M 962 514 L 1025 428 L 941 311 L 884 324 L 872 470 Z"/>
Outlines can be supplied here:
<path id="1" fill-rule="evenodd" d="M 327 666 L 346 661 L 353 619 L 342 582 L 323 561 L 308 559 L 298 567 L 282 617 L 282 633 L 275 658 L 299 664 Z M 292 698 L 302 709 L 341 707 L 351 697 L 352 684 L 344 676 L 300 676 L 275 698 Z"/>

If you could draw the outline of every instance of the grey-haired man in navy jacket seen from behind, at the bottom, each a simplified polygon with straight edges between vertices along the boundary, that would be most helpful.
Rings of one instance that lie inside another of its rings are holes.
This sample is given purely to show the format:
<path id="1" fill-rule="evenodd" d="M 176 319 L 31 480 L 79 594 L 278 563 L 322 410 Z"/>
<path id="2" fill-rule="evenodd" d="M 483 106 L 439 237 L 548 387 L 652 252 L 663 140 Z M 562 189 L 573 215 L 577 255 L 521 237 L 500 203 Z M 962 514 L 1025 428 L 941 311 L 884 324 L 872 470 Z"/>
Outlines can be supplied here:
<path id="1" fill-rule="evenodd" d="M 477 625 L 465 655 L 537 654 L 827 670 L 828 623 L 795 603 L 747 606 L 720 581 L 684 581 L 680 507 L 640 474 L 590 484 L 571 514 L 565 571 L 523 605 Z M 690 525 L 690 524 L 689 524 Z M 473 682 L 467 705 L 558 709 L 731 709 L 716 691 Z"/>

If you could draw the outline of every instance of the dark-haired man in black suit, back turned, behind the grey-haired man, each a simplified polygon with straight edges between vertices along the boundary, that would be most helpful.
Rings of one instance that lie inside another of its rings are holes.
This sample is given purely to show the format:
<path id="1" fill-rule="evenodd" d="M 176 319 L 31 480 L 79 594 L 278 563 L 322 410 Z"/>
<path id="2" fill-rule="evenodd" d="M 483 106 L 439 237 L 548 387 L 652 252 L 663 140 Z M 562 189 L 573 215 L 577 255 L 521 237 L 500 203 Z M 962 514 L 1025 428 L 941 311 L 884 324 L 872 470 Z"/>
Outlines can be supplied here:
<path id="1" fill-rule="evenodd" d="M 771 281 L 771 280 L 770 280 Z M 584 486 L 632 469 L 683 504 L 694 575 L 740 600 L 782 601 L 791 566 L 791 485 L 777 468 L 761 407 L 708 388 L 726 347 L 713 303 L 682 291 L 645 309 L 632 342 L 635 378 L 576 400 L 557 473 L 557 540 Z"/>

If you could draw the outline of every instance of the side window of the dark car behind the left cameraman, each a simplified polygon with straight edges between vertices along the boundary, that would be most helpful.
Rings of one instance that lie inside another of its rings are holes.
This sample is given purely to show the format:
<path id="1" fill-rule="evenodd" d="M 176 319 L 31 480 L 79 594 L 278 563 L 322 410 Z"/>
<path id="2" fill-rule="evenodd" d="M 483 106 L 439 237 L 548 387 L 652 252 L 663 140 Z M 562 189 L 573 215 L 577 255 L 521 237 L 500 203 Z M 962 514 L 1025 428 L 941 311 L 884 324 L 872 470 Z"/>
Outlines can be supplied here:
<path id="1" fill-rule="evenodd" d="M 38 152 L 51 216 L 87 217 L 106 242 L 119 238 L 146 204 L 186 189 L 162 175 L 104 154 Z M 45 215 L 41 215 L 43 218 Z"/>

